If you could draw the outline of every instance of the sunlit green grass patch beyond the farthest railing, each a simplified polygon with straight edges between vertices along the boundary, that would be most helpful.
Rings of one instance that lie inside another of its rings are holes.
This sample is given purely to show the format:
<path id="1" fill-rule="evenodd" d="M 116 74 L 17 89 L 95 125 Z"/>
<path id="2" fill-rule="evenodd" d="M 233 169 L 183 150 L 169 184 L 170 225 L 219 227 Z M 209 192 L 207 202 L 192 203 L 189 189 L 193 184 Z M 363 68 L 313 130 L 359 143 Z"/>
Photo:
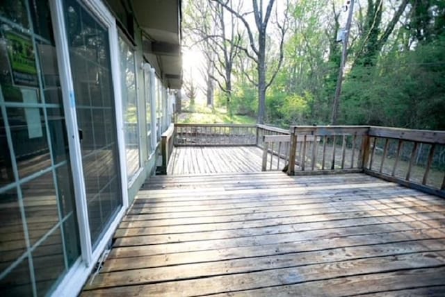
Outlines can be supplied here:
<path id="1" fill-rule="evenodd" d="M 213 110 L 204 105 L 195 105 L 184 109 L 177 115 L 177 123 L 181 124 L 255 124 L 256 119 L 245 115 L 234 114 L 232 117 L 225 108 Z"/>

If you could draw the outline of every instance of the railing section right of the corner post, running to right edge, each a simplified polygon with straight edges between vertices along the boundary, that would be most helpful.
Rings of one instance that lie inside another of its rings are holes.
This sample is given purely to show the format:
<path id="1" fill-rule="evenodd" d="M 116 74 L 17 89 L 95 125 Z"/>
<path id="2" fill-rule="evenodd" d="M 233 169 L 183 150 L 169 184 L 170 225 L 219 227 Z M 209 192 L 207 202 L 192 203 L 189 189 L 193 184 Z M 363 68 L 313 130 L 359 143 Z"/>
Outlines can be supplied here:
<path id="1" fill-rule="evenodd" d="M 445 196 L 445 132 L 370 127 L 370 158 L 364 172 Z"/>

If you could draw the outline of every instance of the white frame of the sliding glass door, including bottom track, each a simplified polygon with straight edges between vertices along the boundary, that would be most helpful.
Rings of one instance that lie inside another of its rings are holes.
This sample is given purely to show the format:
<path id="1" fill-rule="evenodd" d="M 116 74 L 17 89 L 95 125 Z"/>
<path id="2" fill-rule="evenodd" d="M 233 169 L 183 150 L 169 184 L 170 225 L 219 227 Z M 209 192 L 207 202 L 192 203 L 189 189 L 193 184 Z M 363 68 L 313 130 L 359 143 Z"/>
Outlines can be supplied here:
<path id="1" fill-rule="evenodd" d="M 115 229 L 122 220 L 129 205 L 127 190 L 127 165 L 124 142 L 124 121 L 122 115 L 122 86 L 120 84 L 120 63 L 118 29 L 115 19 L 102 1 L 81 0 L 83 5 L 97 17 L 108 30 L 110 44 L 111 74 L 113 80 L 113 92 L 115 99 L 115 121 L 118 137 L 118 154 L 120 167 L 120 183 L 122 190 L 122 207 L 111 222 L 108 229 L 102 235 L 94 251 L 92 250 L 90 227 L 88 223 L 88 205 L 86 201 L 86 186 L 83 178 L 83 166 L 81 160 L 81 147 L 76 117 L 76 101 L 74 99 L 74 85 L 70 67 L 70 53 L 67 44 L 65 30 L 65 17 L 63 3 L 59 0 L 49 0 L 51 19 L 54 28 L 54 39 L 56 41 L 56 53 L 58 69 L 60 73 L 60 85 L 63 94 L 63 110 L 65 112 L 65 124 L 70 148 L 70 160 L 72 164 L 72 175 L 74 194 L 76 196 L 76 211 L 79 223 L 79 237 L 81 244 L 81 258 L 76 261 L 72 269 L 64 276 L 63 280 L 53 292 L 53 296 L 77 296 L 83 284 L 90 275 L 95 263 L 103 253 L 108 242 L 113 237 Z"/>

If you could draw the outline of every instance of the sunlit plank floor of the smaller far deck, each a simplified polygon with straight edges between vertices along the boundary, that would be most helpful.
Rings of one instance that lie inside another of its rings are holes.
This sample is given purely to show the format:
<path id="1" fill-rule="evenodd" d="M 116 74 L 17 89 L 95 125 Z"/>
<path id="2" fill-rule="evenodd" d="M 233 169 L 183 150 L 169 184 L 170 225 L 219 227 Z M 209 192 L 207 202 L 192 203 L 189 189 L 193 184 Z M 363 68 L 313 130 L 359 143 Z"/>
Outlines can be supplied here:
<path id="1" fill-rule="evenodd" d="M 258 172 L 263 151 L 257 146 L 177 146 L 168 164 L 170 175 Z M 273 168 L 277 160 L 273 160 Z M 284 167 L 284 160 L 281 162 Z"/>

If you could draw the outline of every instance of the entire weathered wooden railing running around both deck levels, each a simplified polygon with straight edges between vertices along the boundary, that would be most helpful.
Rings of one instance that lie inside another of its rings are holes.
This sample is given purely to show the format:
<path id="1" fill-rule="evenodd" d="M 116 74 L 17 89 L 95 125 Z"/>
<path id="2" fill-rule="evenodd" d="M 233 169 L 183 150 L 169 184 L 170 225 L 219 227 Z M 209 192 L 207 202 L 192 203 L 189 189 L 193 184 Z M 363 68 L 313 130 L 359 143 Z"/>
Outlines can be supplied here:
<path id="1" fill-rule="evenodd" d="M 165 164 L 176 146 L 259 146 L 261 170 L 289 175 L 364 172 L 445 196 L 445 132 L 374 126 L 175 124 L 165 136 Z"/>

